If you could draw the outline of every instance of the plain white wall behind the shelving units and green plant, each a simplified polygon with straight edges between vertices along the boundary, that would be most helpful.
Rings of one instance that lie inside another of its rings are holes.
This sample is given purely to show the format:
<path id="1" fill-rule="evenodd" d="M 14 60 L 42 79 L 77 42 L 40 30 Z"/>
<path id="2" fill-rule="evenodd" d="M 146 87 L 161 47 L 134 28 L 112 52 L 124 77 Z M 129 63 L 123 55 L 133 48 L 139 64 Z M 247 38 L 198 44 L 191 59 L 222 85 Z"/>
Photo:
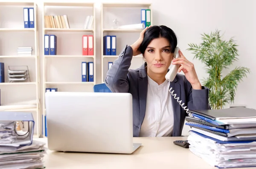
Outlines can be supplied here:
<path id="1" fill-rule="evenodd" d="M 17 0 L 18 1 L 18 0 Z M 22 1 L 22 0 L 19 0 Z M 38 26 L 42 32 L 42 3 L 38 3 Z M 68 0 L 55 0 L 68 2 Z M 73 0 L 77 2 L 93 2 L 92 0 Z M 30 1 L 29 1 L 30 2 Z M 31 1 L 33 2 L 33 1 Z M 96 3 L 96 82 L 101 83 L 101 42 L 100 42 L 100 3 L 102 2 L 125 2 L 124 0 L 98 0 Z M 219 29 L 225 33 L 224 38 L 234 37 L 239 49 L 239 61 L 235 66 L 247 66 L 251 73 L 239 84 L 235 104 L 245 105 L 256 109 L 254 96 L 256 95 L 256 2 L 254 0 L 129 0 L 129 2 L 153 3 L 154 25 L 166 25 L 172 28 L 177 34 L 178 46 L 183 51 L 185 57 L 195 64 L 195 68 L 200 79 L 207 77 L 204 66 L 199 60 L 193 60 L 193 55 L 186 51 L 188 43 L 200 43 L 202 33 L 210 33 Z M 126 14 L 126 13 L 125 13 Z M 99 26 L 97 26 L 99 25 Z M 42 34 L 39 34 L 42 42 Z M 128 44 L 130 45 L 130 44 Z M 42 57 L 42 43 L 40 43 L 40 57 Z M 141 62 L 141 60 L 139 60 Z M 42 68 L 42 66 L 41 66 Z M 42 74 L 41 74 L 42 77 Z M 42 81 L 42 79 L 41 79 Z M 41 91 L 41 95 L 42 95 Z"/>

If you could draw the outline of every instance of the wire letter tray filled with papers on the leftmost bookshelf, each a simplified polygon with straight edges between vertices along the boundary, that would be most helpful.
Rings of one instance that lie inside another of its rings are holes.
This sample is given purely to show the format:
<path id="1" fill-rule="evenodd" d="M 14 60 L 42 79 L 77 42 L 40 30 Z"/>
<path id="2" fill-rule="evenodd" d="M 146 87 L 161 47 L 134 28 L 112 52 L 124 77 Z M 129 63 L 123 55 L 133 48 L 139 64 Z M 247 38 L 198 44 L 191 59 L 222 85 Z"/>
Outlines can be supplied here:
<path id="1" fill-rule="evenodd" d="M 27 82 L 29 79 L 28 66 L 8 66 L 9 82 Z"/>

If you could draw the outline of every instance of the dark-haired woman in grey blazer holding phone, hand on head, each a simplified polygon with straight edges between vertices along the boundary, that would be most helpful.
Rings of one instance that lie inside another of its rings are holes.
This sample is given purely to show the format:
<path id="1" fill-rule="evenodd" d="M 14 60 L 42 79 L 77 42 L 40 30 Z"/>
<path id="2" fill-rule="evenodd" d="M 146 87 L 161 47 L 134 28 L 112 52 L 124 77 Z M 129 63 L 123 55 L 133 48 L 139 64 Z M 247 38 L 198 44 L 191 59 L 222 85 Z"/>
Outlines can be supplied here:
<path id="1" fill-rule="evenodd" d="M 210 109 L 208 89 L 201 86 L 194 65 L 179 51 L 173 59 L 177 38 L 166 26 L 146 27 L 139 39 L 126 46 L 108 70 L 105 84 L 112 92 L 129 92 L 133 97 L 134 137 L 181 136 L 186 111 L 169 92 L 185 103 L 188 109 Z M 129 69 L 133 56 L 143 54 L 145 63 Z M 165 75 L 172 64 L 180 64 L 172 82 Z"/>

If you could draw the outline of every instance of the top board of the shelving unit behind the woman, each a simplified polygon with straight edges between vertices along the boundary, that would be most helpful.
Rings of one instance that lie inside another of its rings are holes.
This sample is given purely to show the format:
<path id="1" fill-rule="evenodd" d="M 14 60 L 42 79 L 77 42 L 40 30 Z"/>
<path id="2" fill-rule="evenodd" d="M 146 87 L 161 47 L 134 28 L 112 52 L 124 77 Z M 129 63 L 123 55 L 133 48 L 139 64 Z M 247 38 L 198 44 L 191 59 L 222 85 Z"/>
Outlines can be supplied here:
<path id="1" fill-rule="evenodd" d="M 148 8 L 150 3 L 102 3 L 103 8 Z"/>

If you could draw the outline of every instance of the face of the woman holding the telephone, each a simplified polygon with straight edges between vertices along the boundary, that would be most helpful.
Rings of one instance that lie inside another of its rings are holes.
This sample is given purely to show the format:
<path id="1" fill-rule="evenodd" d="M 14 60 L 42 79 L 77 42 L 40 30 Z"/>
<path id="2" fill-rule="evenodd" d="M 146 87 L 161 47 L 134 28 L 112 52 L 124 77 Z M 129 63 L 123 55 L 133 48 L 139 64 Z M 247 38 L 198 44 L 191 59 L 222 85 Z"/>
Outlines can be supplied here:
<path id="1" fill-rule="evenodd" d="M 173 58 L 168 40 L 163 37 L 153 39 L 148 44 L 144 57 L 150 73 L 165 75 Z"/>

